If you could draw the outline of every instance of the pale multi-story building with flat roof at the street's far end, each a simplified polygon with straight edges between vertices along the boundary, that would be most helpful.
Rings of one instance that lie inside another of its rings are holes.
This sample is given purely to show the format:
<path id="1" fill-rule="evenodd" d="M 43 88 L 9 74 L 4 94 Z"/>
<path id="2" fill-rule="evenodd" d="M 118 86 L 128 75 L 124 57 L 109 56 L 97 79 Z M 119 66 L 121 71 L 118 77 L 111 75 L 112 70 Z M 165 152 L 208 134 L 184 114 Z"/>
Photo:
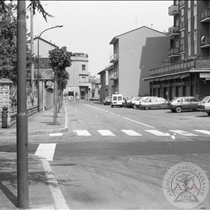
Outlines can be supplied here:
<path id="1" fill-rule="evenodd" d="M 77 99 L 88 99 L 91 83 L 89 82 L 88 55 L 72 53 L 70 67 L 66 70 L 70 77 L 65 91 Z"/>

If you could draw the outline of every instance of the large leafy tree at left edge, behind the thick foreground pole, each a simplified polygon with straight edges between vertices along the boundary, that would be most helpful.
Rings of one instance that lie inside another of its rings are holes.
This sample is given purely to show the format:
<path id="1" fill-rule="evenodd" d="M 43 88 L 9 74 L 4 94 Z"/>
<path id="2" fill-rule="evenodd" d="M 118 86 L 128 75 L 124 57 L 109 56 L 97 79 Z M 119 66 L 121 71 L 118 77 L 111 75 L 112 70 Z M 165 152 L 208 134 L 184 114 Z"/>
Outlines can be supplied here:
<path id="1" fill-rule="evenodd" d="M 4 9 L 3 9 L 4 8 Z M 0 78 L 8 78 L 17 84 L 17 18 L 14 15 L 17 6 L 0 4 Z M 32 55 L 27 49 L 27 69 L 32 63 Z"/>

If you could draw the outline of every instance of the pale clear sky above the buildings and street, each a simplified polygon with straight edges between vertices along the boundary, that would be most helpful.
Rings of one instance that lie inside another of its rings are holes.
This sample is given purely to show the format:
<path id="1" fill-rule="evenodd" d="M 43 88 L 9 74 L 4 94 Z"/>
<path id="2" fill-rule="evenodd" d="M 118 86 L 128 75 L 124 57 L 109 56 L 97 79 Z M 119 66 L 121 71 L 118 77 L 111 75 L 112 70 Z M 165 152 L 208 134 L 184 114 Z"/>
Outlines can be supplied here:
<path id="1" fill-rule="evenodd" d="M 142 26 L 160 32 L 167 32 L 173 26 L 173 17 L 168 15 L 172 0 L 41 2 L 54 17 L 48 17 L 46 22 L 40 13 L 36 13 L 34 37 L 47 28 L 63 25 L 44 32 L 41 37 L 58 47 L 66 46 L 69 52 L 88 54 L 92 76 L 110 65 L 113 45 L 109 43 L 115 36 Z M 27 27 L 30 31 L 29 20 Z"/>

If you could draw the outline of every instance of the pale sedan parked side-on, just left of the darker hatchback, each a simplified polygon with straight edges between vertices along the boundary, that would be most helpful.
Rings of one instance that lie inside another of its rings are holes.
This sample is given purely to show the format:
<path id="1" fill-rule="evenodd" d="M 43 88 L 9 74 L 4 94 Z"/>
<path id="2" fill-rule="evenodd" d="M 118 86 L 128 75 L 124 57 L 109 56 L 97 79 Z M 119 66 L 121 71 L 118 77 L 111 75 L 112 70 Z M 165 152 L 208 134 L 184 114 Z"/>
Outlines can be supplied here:
<path id="1" fill-rule="evenodd" d="M 168 107 L 168 101 L 162 97 L 152 97 L 141 101 L 141 109 L 166 109 Z"/>

